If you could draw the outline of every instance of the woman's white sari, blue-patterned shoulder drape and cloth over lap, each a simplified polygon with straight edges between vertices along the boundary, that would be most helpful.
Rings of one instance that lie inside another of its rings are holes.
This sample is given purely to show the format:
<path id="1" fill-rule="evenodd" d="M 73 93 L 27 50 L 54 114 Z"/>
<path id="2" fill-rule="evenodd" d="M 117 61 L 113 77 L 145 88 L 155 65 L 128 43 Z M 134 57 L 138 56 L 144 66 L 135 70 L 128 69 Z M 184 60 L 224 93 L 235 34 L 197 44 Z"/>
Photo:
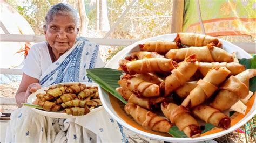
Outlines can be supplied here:
<path id="1" fill-rule="evenodd" d="M 78 38 L 75 45 L 52 63 L 39 79 L 46 87 L 63 82 L 92 82 L 87 68 L 95 68 L 99 46 Z M 123 127 L 102 110 L 69 119 L 39 115 L 28 107 L 11 114 L 6 142 L 127 142 Z"/>

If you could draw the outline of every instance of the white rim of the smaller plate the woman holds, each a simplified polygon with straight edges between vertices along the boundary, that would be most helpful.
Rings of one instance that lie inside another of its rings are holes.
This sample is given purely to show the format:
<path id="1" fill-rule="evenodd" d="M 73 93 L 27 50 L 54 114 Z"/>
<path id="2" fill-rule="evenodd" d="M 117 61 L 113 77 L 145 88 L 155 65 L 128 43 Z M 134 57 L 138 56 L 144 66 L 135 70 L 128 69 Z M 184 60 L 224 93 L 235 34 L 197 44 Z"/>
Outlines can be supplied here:
<path id="1" fill-rule="evenodd" d="M 81 84 L 85 84 L 87 86 L 99 86 L 98 84 L 96 83 L 91 83 L 91 82 L 66 82 L 66 83 L 60 83 L 60 84 L 76 84 L 76 83 L 81 83 Z M 57 84 L 55 84 L 57 85 Z M 54 85 L 51 85 L 51 86 L 54 86 Z M 35 100 L 36 100 L 36 95 L 38 93 L 45 93 L 45 90 L 49 89 L 49 87 L 44 87 L 44 88 L 41 88 L 41 89 L 38 89 L 36 92 L 32 93 L 27 102 L 28 103 L 33 103 Z M 52 112 L 52 111 L 44 111 L 44 110 L 41 110 L 41 109 L 36 109 L 36 108 L 31 108 L 33 111 L 43 115 L 43 116 L 48 116 L 48 117 L 52 117 L 52 118 L 76 118 L 76 117 L 80 117 L 80 116 L 72 116 L 72 115 L 68 115 L 66 113 L 63 113 L 63 112 Z M 93 113 L 93 112 L 97 112 L 99 110 L 102 110 L 103 109 L 103 106 L 99 106 L 97 108 L 94 108 L 94 109 L 91 109 L 90 113 Z M 87 113 L 86 115 L 89 115 L 90 113 Z M 83 115 L 83 116 L 86 116 L 86 115 Z"/>

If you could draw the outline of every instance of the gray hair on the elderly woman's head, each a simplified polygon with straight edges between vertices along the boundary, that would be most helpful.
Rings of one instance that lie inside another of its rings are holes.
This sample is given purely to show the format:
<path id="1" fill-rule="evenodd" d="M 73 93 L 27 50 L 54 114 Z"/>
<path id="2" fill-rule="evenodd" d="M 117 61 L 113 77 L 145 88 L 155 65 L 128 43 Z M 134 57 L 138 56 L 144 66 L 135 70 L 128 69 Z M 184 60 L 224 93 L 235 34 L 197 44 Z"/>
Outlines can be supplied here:
<path id="1" fill-rule="evenodd" d="M 45 16 L 45 25 L 47 25 L 53 20 L 53 16 L 60 14 L 60 15 L 71 15 L 74 19 L 76 27 L 78 26 L 78 17 L 77 11 L 72 8 L 72 6 L 64 3 L 58 3 L 52 5 L 51 8 L 48 10 Z"/>

